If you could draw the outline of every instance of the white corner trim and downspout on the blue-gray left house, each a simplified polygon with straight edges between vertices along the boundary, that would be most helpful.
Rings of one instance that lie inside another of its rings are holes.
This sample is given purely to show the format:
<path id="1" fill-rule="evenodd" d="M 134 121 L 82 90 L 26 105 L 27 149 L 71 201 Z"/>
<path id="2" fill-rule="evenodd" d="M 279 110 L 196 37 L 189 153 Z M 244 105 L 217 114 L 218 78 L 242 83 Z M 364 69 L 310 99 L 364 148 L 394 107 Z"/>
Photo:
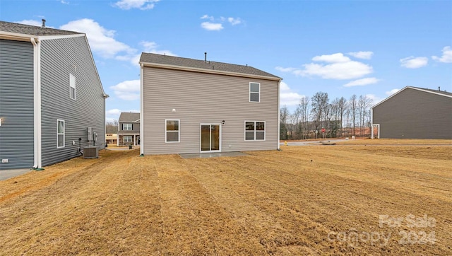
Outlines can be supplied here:
<path id="1" fill-rule="evenodd" d="M 34 97 L 34 155 L 35 170 L 42 170 L 42 120 L 41 120 L 41 43 L 39 37 L 30 37 L 33 45 L 33 97 Z"/>

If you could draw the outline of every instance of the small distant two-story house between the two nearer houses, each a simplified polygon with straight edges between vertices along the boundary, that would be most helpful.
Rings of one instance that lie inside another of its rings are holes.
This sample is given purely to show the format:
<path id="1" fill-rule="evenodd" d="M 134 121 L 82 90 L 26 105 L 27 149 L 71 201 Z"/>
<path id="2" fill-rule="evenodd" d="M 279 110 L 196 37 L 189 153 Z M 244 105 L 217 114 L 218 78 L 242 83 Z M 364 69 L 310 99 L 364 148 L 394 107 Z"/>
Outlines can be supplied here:
<path id="1" fill-rule="evenodd" d="M 140 144 L 140 113 L 121 112 L 118 120 L 117 146 Z"/>

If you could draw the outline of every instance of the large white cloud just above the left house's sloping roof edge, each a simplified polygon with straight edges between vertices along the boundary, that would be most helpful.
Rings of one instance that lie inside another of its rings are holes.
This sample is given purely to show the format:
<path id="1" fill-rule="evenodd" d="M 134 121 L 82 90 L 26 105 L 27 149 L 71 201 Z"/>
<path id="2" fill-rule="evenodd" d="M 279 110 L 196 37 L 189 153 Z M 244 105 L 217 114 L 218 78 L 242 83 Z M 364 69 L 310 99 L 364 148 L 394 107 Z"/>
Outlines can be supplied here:
<path id="1" fill-rule="evenodd" d="M 121 52 L 126 54 L 134 54 L 136 52 L 129 45 L 115 40 L 114 30 L 107 30 L 99 23 L 88 18 L 70 21 L 66 25 L 62 25 L 60 29 L 85 33 L 90 42 L 91 50 L 104 58 L 113 58 Z"/>

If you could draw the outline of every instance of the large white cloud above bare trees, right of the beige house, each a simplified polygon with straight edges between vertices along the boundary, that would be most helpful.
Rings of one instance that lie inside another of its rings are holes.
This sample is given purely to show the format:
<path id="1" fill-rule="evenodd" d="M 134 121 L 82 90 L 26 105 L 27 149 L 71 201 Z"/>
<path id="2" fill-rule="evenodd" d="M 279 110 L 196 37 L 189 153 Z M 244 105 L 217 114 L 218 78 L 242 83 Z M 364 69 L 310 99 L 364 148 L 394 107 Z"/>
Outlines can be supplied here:
<path id="1" fill-rule="evenodd" d="M 324 79 L 355 79 L 371 74 L 371 66 L 362 62 L 352 61 L 342 53 L 327 54 L 313 57 L 314 62 L 326 62 L 326 64 L 304 64 L 303 69 L 277 66 L 276 69 L 283 72 L 292 72 L 297 76 L 320 76 Z"/>

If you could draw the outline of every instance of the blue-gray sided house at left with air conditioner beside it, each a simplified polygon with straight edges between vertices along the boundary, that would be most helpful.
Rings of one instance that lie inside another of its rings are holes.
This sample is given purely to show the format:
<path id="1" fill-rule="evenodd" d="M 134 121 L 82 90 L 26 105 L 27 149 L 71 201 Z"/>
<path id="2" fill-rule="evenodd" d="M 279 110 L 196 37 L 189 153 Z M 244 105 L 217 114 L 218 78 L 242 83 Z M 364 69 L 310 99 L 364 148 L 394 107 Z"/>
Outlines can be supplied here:
<path id="1" fill-rule="evenodd" d="M 105 98 L 84 33 L 0 21 L 0 170 L 103 149 Z"/>

